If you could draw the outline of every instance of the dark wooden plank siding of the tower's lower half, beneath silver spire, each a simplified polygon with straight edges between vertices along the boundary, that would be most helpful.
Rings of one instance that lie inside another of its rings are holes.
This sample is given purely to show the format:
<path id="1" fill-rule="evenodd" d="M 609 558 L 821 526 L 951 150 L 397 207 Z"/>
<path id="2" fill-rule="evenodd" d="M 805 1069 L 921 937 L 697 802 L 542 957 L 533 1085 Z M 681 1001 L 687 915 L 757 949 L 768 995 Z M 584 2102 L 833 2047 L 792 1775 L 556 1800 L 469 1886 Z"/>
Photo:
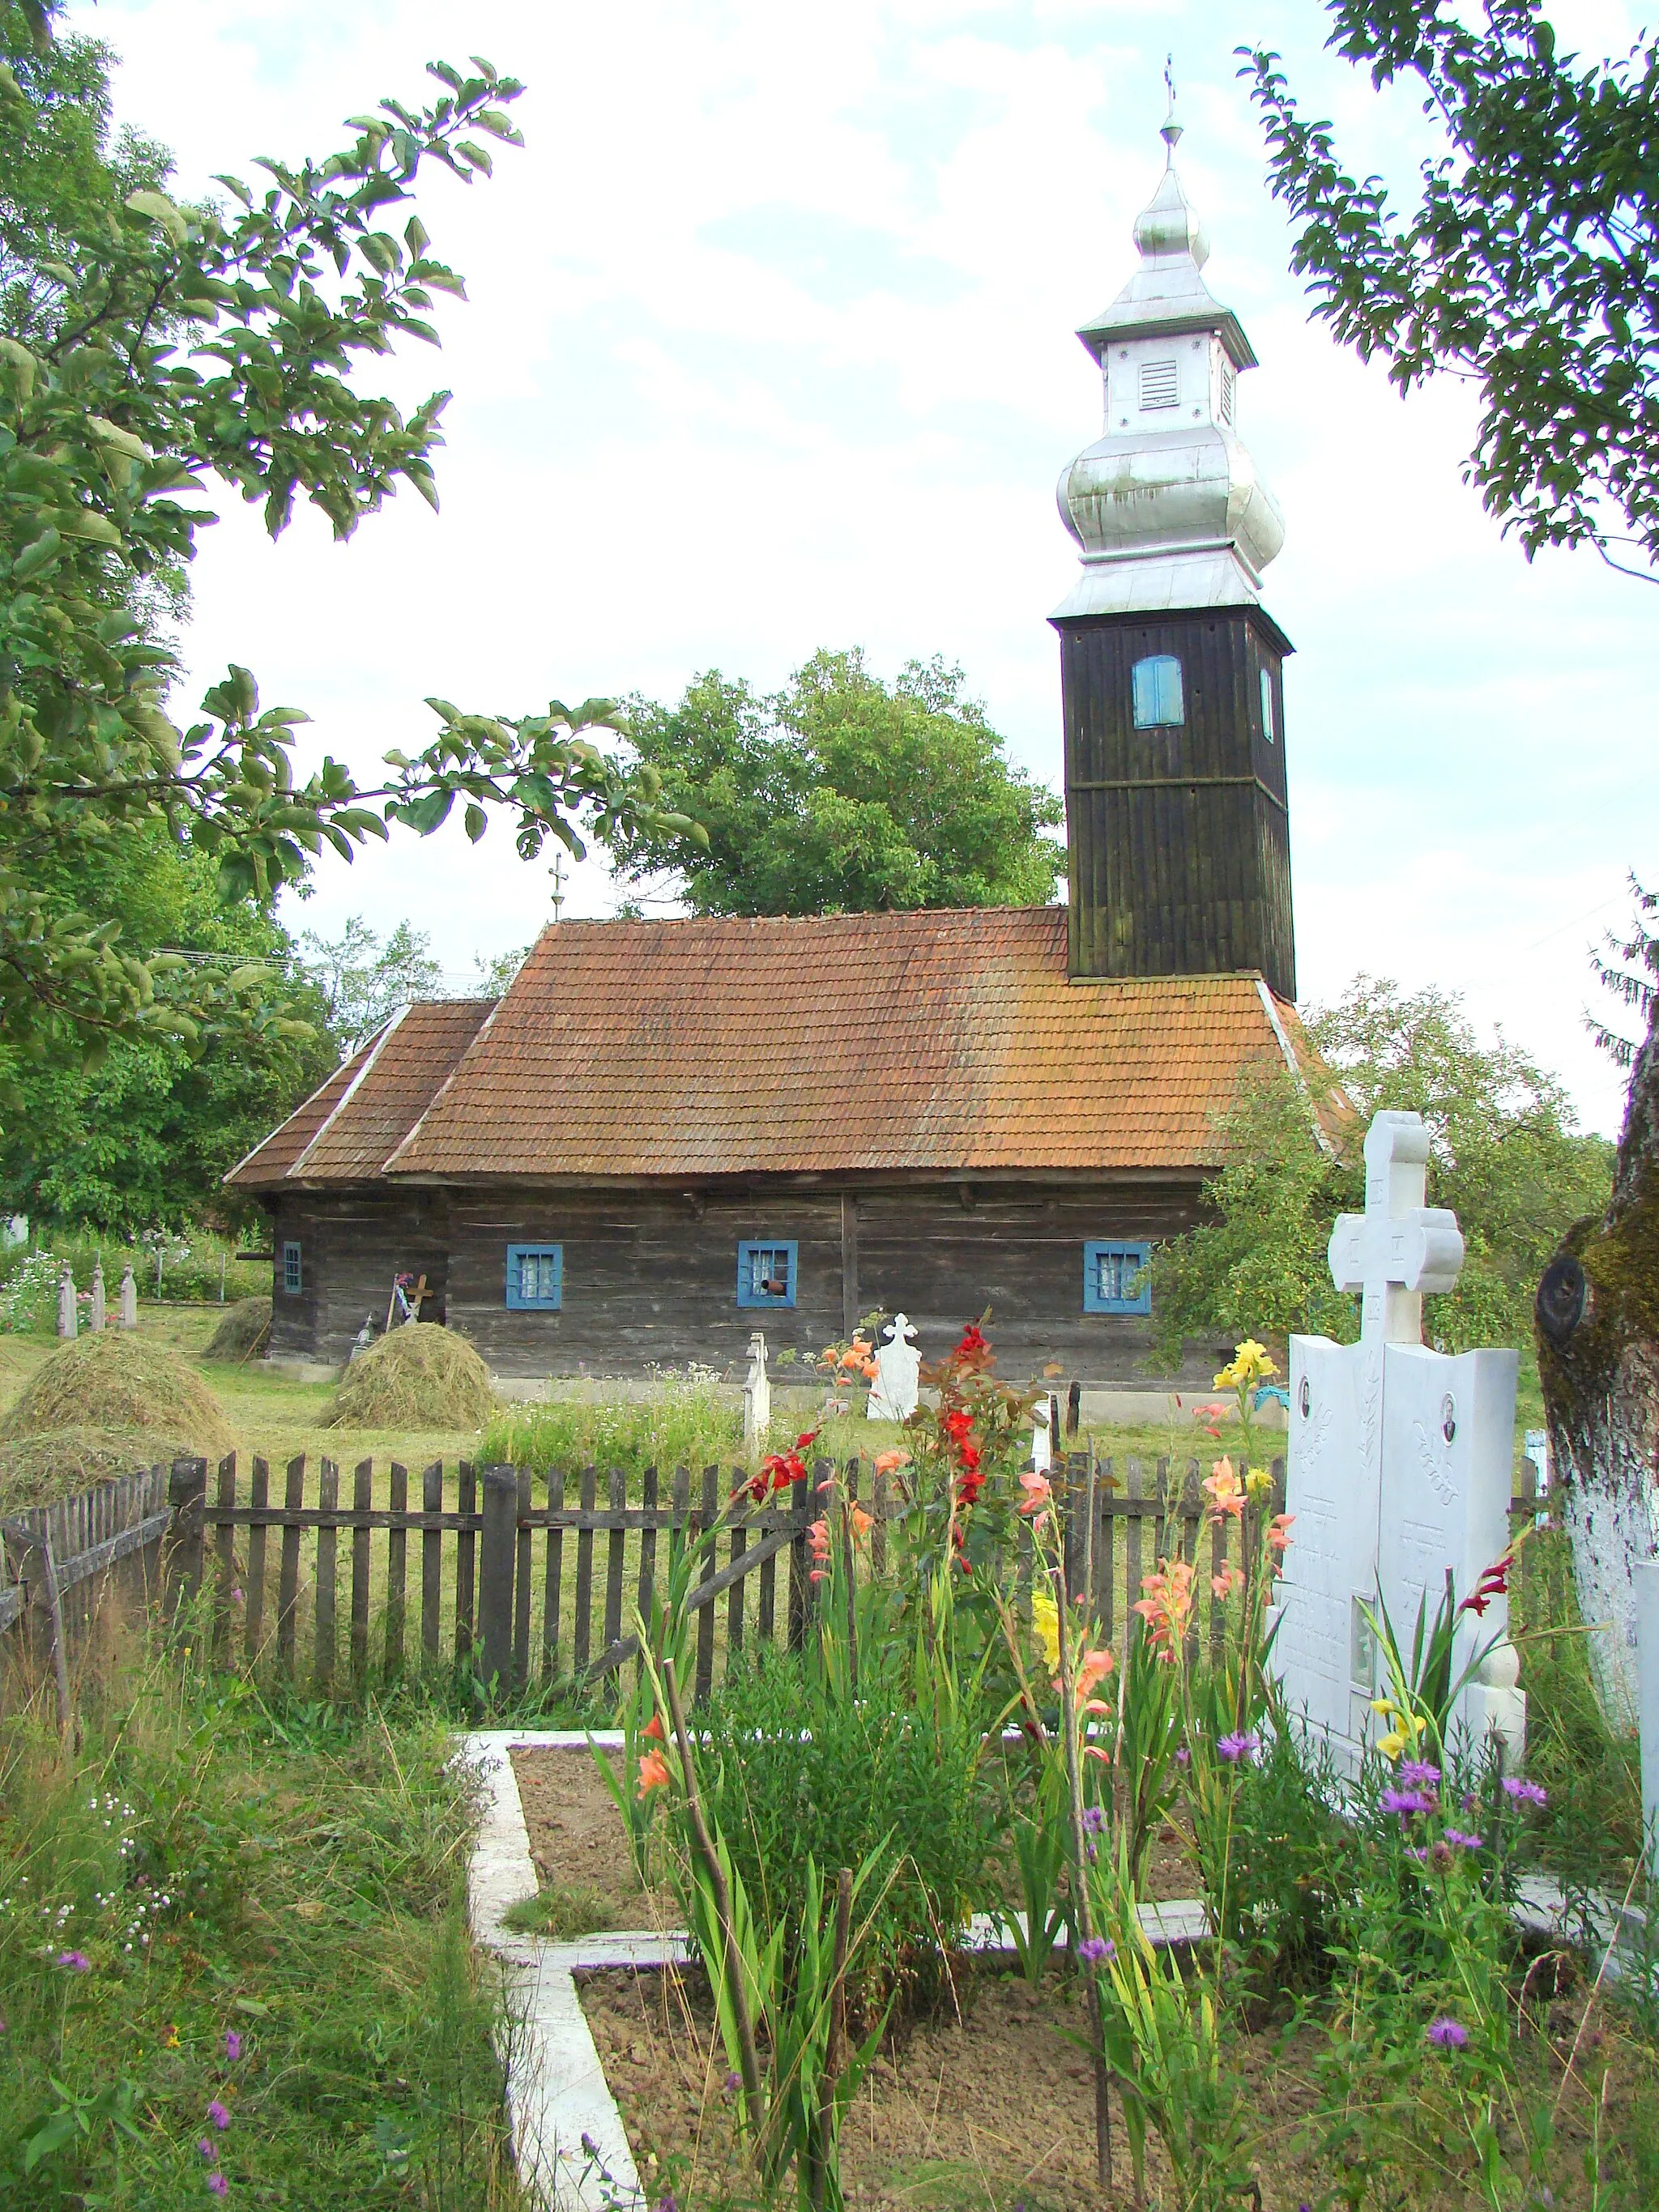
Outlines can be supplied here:
<path id="1" fill-rule="evenodd" d="M 1296 998 L 1281 668 L 1259 606 L 1062 619 L 1071 973 L 1259 969 Z M 1133 670 L 1181 664 L 1186 719 L 1137 730 Z M 1263 728 L 1263 670 L 1274 730 Z"/>

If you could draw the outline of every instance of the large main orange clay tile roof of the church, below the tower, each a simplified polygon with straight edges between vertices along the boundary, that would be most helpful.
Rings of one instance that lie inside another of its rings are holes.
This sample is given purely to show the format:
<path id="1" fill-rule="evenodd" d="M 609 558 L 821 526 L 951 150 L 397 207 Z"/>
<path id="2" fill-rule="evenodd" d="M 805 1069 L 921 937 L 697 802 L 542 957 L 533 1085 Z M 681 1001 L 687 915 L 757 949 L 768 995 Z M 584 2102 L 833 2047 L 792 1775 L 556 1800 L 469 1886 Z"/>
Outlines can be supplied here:
<path id="1" fill-rule="evenodd" d="M 1062 907 L 555 922 L 385 1172 L 1192 1172 L 1290 1024 L 1256 975 L 1068 984 Z"/>

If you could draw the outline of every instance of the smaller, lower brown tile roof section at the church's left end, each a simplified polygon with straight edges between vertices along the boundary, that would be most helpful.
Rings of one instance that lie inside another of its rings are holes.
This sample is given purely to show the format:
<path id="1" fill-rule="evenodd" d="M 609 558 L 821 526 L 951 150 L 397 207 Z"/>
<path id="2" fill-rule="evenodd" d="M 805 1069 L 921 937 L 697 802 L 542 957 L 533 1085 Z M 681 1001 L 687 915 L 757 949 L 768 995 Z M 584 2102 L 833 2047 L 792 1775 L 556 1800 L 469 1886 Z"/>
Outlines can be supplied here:
<path id="1" fill-rule="evenodd" d="M 422 1000 L 394 1013 L 228 1183 L 358 1183 L 378 1175 L 489 1018 L 493 998 Z"/>

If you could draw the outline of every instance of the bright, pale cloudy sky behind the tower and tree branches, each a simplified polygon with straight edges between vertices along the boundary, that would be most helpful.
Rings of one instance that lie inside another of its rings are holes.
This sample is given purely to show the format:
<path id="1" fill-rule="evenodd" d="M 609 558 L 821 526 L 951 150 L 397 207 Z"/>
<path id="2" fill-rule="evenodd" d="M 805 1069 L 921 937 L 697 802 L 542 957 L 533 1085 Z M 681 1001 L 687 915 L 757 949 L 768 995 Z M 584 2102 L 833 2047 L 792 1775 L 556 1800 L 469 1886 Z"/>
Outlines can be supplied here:
<path id="1" fill-rule="evenodd" d="M 1562 49 L 1626 46 L 1621 0 L 1553 11 Z M 378 363 L 398 405 L 453 392 L 442 513 L 405 491 L 334 544 L 270 544 L 234 495 L 206 533 L 188 712 L 228 661 L 372 774 L 482 712 L 644 692 L 719 668 L 781 686 L 818 646 L 891 675 L 945 655 L 1013 759 L 1062 779 L 1046 615 L 1075 575 L 1053 487 L 1099 436 L 1075 330 L 1121 288 L 1164 148 L 1210 230 L 1206 279 L 1261 369 L 1239 429 L 1287 520 L 1263 602 L 1285 670 L 1298 987 L 1358 973 L 1464 995 L 1557 1071 L 1588 1128 L 1624 1082 L 1586 1031 L 1588 949 L 1652 880 L 1659 593 L 1593 553 L 1528 564 L 1462 482 L 1475 400 L 1402 400 L 1307 321 L 1234 46 L 1283 55 L 1349 170 L 1411 192 L 1433 150 L 1409 91 L 1325 55 L 1316 0 L 102 0 L 71 27 L 122 58 L 117 113 L 175 188 L 323 155 L 434 58 L 526 82 L 526 148 L 418 199 L 467 279 L 442 352 Z M 588 863 L 564 914 L 608 914 Z M 325 858 L 285 920 L 431 936 L 451 987 L 551 918 L 504 825 L 394 832 Z"/>

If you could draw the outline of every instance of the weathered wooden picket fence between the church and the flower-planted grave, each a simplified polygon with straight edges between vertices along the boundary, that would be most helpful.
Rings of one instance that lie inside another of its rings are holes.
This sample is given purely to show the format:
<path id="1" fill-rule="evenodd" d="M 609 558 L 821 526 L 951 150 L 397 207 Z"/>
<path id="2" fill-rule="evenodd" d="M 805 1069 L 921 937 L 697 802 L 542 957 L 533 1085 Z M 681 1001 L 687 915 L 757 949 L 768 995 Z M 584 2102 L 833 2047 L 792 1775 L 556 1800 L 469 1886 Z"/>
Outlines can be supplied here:
<path id="1" fill-rule="evenodd" d="M 1272 1473 L 1261 1513 L 1283 1511 L 1283 1460 Z M 66 1655 L 108 1577 L 124 1573 L 135 1595 L 166 1590 L 170 1606 L 206 1584 L 219 1657 L 305 1681 L 319 1697 L 345 1683 L 361 1694 L 376 1679 L 434 1663 L 467 1666 L 498 1694 L 555 1681 L 597 1686 L 635 1657 L 626 1621 L 635 1608 L 648 1617 L 659 1573 L 692 1546 L 701 1553 L 688 1599 L 695 1683 L 706 1699 L 719 1648 L 730 1668 L 748 1641 L 803 1641 L 816 1604 L 810 1524 L 827 1475 L 872 1513 L 869 1564 L 885 1573 L 889 1524 L 905 1498 L 896 1478 L 878 1478 L 858 1458 L 821 1460 L 805 1482 L 759 1506 L 741 1467 L 706 1467 L 697 1478 L 681 1467 L 661 1482 L 657 1469 L 630 1478 L 586 1467 L 544 1480 L 529 1469 L 460 1462 L 451 1473 L 434 1462 L 416 1478 L 411 1506 L 409 1469 L 396 1460 L 378 1475 L 372 1460 L 352 1469 L 349 1502 L 332 1460 L 321 1460 L 314 1480 L 303 1455 L 290 1460 L 281 1498 L 265 1460 L 252 1460 L 246 1486 L 234 1453 L 212 1473 L 206 1460 L 175 1460 L 0 1522 L 9 1577 L 0 1579 L 0 1650 L 11 1632 L 15 1655 L 20 1632 L 22 1650 L 55 1670 L 66 1708 Z M 1223 1522 L 1206 1540 L 1197 1460 L 1115 1464 L 1071 1453 L 1053 1480 L 1066 1586 L 1088 1593 L 1099 1632 L 1117 1639 L 1141 1575 L 1183 1557 L 1201 1568 L 1190 1652 L 1206 1626 L 1219 1646 L 1223 1608 L 1210 1577 L 1230 1562 L 1250 1571 L 1256 1509 L 1248 1526 Z M 1511 1511 L 1531 1522 L 1546 1506 L 1524 1462 Z M 1029 1573 L 1026 1531 L 1022 1593 Z"/>

